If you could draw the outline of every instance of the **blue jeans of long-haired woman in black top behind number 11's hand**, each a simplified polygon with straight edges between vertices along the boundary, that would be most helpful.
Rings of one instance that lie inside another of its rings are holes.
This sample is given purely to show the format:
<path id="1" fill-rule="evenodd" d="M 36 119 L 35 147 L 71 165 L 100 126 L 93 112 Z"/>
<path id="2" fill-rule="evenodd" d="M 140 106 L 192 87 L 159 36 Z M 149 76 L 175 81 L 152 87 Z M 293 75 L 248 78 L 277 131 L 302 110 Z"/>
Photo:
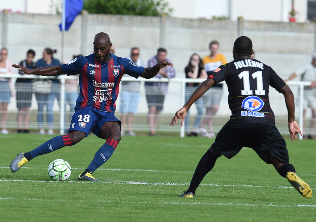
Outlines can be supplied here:
<path id="1" fill-rule="evenodd" d="M 185 87 L 185 102 L 187 102 L 190 98 L 190 96 L 192 95 L 192 93 L 197 89 L 197 86 L 186 86 Z M 193 128 L 198 128 L 200 125 L 200 122 L 202 120 L 203 117 L 203 113 L 204 113 L 204 106 L 203 106 L 203 99 L 202 97 L 199 98 L 195 103 L 194 103 L 197 107 L 197 117 L 195 118 L 195 122 L 193 125 Z M 190 131 L 190 111 L 187 112 L 186 117 L 185 117 L 185 131 L 189 132 Z"/>

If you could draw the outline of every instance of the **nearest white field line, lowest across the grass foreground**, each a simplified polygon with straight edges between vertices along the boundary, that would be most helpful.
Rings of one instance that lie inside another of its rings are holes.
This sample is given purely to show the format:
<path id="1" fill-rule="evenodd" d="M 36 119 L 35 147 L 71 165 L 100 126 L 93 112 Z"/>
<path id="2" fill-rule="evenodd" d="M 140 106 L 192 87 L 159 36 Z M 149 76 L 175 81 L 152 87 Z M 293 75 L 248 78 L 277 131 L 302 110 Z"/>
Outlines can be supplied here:
<path id="1" fill-rule="evenodd" d="M 73 200 L 47 200 L 47 199 L 36 199 L 36 198 L 16 198 L 16 197 L 0 197 L 0 201 L 2 200 L 27 200 L 27 201 L 60 201 L 60 202 L 75 202 Z M 118 203 L 116 201 L 109 200 L 90 200 L 91 202 L 103 202 L 103 203 Z M 316 207 L 316 205 L 308 205 L 308 204 L 298 204 L 298 205 L 276 205 L 276 204 L 246 204 L 246 203 L 201 203 L 201 202 L 129 202 L 122 201 L 119 203 L 127 203 L 127 204 L 157 204 L 157 205 L 206 205 L 206 206 L 240 206 L 240 207 Z"/>

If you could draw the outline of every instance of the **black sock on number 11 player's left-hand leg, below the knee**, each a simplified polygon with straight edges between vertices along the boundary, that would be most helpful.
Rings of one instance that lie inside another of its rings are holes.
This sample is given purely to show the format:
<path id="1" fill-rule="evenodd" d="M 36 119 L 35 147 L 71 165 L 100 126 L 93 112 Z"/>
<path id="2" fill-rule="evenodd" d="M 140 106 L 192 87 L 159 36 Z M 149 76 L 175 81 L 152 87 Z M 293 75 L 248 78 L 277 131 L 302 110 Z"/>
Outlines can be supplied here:
<path id="1" fill-rule="evenodd" d="M 200 185 L 205 175 L 214 167 L 216 159 L 217 157 L 210 150 L 206 151 L 200 162 L 197 164 L 189 189 L 186 192 L 192 192 L 195 194 L 195 190 L 198 185 Z"/>

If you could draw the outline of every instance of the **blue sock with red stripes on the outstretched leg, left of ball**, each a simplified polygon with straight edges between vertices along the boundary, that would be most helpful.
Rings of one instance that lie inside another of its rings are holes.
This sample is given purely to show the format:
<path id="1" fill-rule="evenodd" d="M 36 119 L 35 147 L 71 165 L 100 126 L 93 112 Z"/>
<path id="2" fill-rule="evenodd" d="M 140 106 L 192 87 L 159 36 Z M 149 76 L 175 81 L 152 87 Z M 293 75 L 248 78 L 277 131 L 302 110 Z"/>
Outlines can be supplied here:
<path id="1" fill-rule="evenodd" d="M 64 146 L 71 146 L 71 145 L 72 144 L 71 144 L 70 137 L 68 136 L 68 134 L 60 135 L 60 136 L 54 137 L 54 138 L 46 141 L 45 143 L 43 143 L 39 147 L 33 149 L 32 151 L 30 151 L 30 154 L 31 154 L 32 158 L 34 158 L 34 157 L 39 156 L 39 155 L 53 152 L 53 151 L 60 149 Z"/>

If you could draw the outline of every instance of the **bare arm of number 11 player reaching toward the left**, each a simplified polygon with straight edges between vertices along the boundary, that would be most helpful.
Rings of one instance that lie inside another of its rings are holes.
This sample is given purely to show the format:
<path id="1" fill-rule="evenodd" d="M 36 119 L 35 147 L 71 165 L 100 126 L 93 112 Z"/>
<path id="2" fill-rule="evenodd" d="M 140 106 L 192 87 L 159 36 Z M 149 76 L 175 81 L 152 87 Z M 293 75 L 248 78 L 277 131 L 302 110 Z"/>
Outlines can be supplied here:
<path id="1" fill-rule="evenodd" d="M 215 85 L 215 80 L 213 78 L 208 78 L 204 82 L 202 82 L 197 89 L 193 92 L 189 100 L 184 104 L 184 106 L 179 109 L 171 120 L 170 125 L 174 126 L 177 124 L 177 120 L 181 120 L 181 126 L 183 126 L 183 121 L 185 116 L 192 106 L 192 104 L 197 101 L 206 91 L 208 91 L 213 85 Z"/>

